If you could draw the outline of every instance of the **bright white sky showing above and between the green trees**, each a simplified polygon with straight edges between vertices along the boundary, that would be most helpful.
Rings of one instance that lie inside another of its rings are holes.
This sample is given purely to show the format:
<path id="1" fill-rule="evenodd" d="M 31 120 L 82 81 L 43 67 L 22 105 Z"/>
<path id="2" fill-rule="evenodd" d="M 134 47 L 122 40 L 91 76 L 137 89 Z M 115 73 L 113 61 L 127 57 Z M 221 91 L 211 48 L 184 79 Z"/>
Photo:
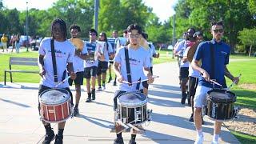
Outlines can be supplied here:
<path id="1" fill-rule="evenodd" d="M 46 10 L 51 7 L 54 2 L 58 0 L 3 0 L 3 5 L 8 9 L 17 8 L 18 10 L 26 10 L 26 6 L 28 9 L 36 8 L 39 10 Z M 146 6 L 150 6 L 153 8 L 153 13 L 157 14 L 158 18 L 160 18 L 160 22 L 164 22 L 170 16 L 175 14 L 174 5 L 178 2 L 178 0 L 142 0 L 145 2 Z M 26 2 L 27 5 L 26 5 Z"/>

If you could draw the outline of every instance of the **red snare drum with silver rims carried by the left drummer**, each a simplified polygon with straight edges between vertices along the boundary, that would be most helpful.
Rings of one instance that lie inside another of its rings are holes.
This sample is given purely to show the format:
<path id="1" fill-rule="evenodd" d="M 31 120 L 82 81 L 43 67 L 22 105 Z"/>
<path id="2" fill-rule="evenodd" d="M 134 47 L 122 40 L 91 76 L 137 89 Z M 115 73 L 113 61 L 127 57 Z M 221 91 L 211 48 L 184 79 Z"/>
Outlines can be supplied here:
<path id="1" fill-rule="evenodd" d="M 40 114 L 46 122 L 64 122 L 70 118 L 70 94 L 65 89 L 45 90 L 40 94 Z"/>

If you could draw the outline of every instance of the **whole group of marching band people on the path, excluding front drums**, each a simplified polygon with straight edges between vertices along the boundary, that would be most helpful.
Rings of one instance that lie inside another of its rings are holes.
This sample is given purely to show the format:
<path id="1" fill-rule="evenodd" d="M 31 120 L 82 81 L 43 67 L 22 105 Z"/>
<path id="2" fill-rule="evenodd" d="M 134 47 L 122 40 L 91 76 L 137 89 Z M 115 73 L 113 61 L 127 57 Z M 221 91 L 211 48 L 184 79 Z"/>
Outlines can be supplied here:
<path id="1" fill-rule="evenodd" d="M 188 116 L 190 122 L 194 122 L 197 131 L 195 143 L 203 142 L 202 133 L 202 107 L 206 102 L 206 93 L 215 88 L 226 89 L 224 76 L 234 83 L 239 82 L 238 77 L 230 74 L 226 68 L 229 63 L 230 46 L 222 42 L 224 26 L 222 22 L 212 22 L 210 25 L 213 36 L 210 41 L 203 41 L 203 34 L 189 28 L 184 34 L 184 40 L 174 46 L 174 54 L 179 58 L 180 85 L 182 91 L 181 104 L 185 105 L 186 99 L 192 112 Z M 107 38 L 105 32 L 89 30 L 90 40 L 83 42 L 79 36 L 80 26 L 70 26 L 70 39 L 67 39 L 66 22 L 62 19 L 54 19 L 51 25 L 51 38 L 44 38 L 40 44 L 38 53 L 38 66 L 42 76 L 38 98 L 45 90 L 54 88 L 65 89 L 69 92 L 70 104 L 74 110 L 74 116 L 79 114 L 78 105 L 81 98 L 81 86 L 86 78 L 86 102 L 96 100 L 96 79 L 98 91 L 106 89 L 106 71 L 111 69 L 115 78 L 113 85 L 118 83 L 118 90 L 114 94 L 114 111 L 118 108 L 118 97 L 125 93 L 140 92 L 147 96 L 149 84 L 154 82 L 153 58 L 159 58 L 154 45 L 147 42 L 148 35 L 142 31 L 142 27 L 131 24 L 123 31 L 123 41 L 118 38 L 118 31 L 113 31 L 113 38 Z M 190 50 L 194 49 L 194 54 Z M 69 79 L 66 81 L 66 79 Z M 140 82 L 146 79 L 145 82 Z M 218 83 L 221 86 L 211 83 Z M 62 82 L 59 84 L 59 82 Z M 75 85 L 75 104 L 69 86 Z M 133 83 L 137 82 L 137 83 Z M 58 85 L 56 85 L 58 83 Z M 188 84 L 187 84 L 188 83 Z M 40 102 L 38 100 L 38 110 Z M 42 113 L 40 113 L 42 114 Z M 50 122 L 42 119 L 46 129 L 46 137 L 42 143 L 50 143 L 55 138 L 55 144 L 62 143 L 64 122 L 58 122 L 58 134 L 54 134 Z M 114 122 L 116 130 L 120 124 Z M 214 137 L 212 143 L 218 143 L 222 122 L 216 120 L 214 125 Z M 131 130 L 130 144 L 136 143 L 138 132 Z M 122 133 L 116 133 L 114 144 L 123 143 Z"/>

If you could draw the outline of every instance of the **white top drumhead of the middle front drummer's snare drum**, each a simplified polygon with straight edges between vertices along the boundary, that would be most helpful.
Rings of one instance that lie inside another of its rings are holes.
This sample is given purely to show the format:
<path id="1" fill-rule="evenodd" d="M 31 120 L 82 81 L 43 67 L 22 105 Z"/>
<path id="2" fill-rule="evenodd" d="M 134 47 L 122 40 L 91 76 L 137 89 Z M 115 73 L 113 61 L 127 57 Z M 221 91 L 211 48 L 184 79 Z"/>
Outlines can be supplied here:
<path id="1" fill-rule="evenodd" d="M 142 106 L 148 101 L 147 97 L 138 92 L 121 94 L 118 97 L 118 103 L 122 106 Z"/>

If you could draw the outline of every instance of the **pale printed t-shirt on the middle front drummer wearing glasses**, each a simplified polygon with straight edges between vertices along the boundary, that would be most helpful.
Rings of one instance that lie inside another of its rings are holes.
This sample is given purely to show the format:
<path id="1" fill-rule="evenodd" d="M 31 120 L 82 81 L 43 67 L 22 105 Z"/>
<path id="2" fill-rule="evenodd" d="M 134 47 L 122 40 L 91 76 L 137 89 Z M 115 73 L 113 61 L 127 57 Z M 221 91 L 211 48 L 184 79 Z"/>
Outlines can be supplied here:
<path id="1" fill-rule="evenodd" d="M 150 67 L 150 55 L 147 50 L 145 50 L 142 46 L 138 48 L 138 50 L 134 50 L 129 48 L 129 62 L 130 62 L 130 73 L 131 73 L 131 81 L 136 82 L 139 78 L 146 79 L 144 74 L 144 67 Z M 118 62 L 120 64 L 120 71 L 122 77 L 126 82 L 127 79 L 127 72 L 126 72 L 126 57 L 125 57 L 125 47 L 121 47 L 118 51 L 116 56 L 114 57 L 114 62 Z M 131 92 L 136 90 L 137 83 L 133 84 L 132 86 L 128 86 L 126 83 L 119 84 L 119 90 Z M 140 88 L 142 89 L 142 83 L 140 84 Z"/>

